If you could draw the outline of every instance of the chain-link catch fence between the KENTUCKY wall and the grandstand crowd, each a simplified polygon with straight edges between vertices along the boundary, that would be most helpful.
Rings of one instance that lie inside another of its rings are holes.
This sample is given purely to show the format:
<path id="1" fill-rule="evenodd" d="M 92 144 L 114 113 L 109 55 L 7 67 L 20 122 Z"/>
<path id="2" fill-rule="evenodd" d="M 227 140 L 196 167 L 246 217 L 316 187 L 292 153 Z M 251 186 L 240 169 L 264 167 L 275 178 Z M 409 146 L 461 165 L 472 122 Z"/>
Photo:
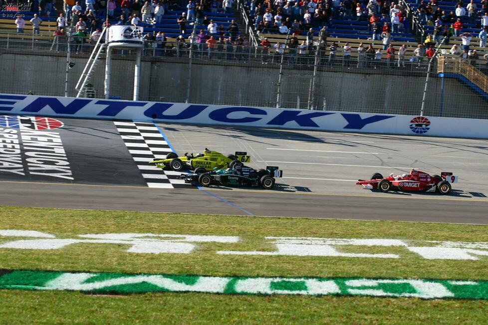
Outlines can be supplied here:
<path id="1" fill-rule="evenodd" d="M 67 49 L 70 46 L 70 58 Z M 387 58 L 374 53 L 344 57 L 315 47 L 300 50 L 261 46 L 147 42 L 141 66 L 141 100 L 300 108 L 382 114 L 420 114 L 427 58 Z M 89 40 L 0 37 L 0 91 L 76 96 L 74 86 L 92 50 Z M 131 100 L 135 53 L 115 50 L 112 98 Z M 67 63 L 70 68 L 66 69 Z M 488 119 L 487 94 L 457 75 L 437 74 L 433 60 L 424 115 Z M 472 62 L 480 73 L 484 61 Z M 66 73 L 66 70 L 68 71 Z M 66 78 L 67 75 L 67 78 Z M 89 81 L 89 97 L 104 98 L 104 56 Z M 485 76 L 485 74 L 484 74 Z"/>

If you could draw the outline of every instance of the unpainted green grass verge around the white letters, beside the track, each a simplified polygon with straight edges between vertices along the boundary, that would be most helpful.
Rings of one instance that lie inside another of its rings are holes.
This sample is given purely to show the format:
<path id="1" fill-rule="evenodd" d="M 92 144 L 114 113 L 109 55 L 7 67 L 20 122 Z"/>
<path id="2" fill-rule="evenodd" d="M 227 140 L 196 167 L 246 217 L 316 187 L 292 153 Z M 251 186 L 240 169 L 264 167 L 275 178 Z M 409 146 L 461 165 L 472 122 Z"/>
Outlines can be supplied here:
<path id="1" fill-rule="evenodd" d="M 233 256 L 217 250 L 269 250 L 264 236 L 488 241 L 488 226 L 316 220 L 3 207 L 0 229 L 37 230 L 57 238 L 133 232 L 239 236 L 205 243 L 191 254 L 127 253 L 125 245 L 76 244 L 60 250 L 0 250 L 0 268 L 216 276 L 372 277 L 488 280 L 488 257 L 426 260 L 401 247 L 369 249 L 399 259 Z M 8 238 L 12 240 L 12 238 Z M 0 243 L 7 241 L 0 237 Z M 362 247 L 344 247 L 359 252 Z M 472 323 L 486 322 L 486 301 L 359 297 L 263 297 L 0 291 L 0 324 L 12 323 Z"/>

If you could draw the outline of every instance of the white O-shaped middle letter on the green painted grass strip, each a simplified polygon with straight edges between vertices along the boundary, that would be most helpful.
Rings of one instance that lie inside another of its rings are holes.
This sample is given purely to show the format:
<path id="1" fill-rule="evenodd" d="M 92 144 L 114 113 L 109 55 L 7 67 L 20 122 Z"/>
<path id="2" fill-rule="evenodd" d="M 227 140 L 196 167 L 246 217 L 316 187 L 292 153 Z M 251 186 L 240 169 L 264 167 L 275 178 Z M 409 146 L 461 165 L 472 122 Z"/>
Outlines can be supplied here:
<path id="1" fill-rule="evenodd" d="M 286 282 L 289 285 L 298 285 L 304 290 L 273 289 L 273 283 Z M 331 295 L 341 291 L 332 280 L 318 281 L 315 279 L 281 279 L 281 278 L 251 278 L 238 280 L 235 284 L 237 293 L 248 294 L 283 294 L 283 295 Z"/>

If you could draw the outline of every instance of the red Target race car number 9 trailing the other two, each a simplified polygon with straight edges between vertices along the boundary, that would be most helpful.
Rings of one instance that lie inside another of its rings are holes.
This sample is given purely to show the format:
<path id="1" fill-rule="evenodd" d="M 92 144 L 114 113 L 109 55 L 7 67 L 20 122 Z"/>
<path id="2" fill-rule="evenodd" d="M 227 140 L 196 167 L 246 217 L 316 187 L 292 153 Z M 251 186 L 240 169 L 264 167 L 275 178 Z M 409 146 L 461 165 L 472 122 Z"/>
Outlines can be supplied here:
<path id="1" fill-rule="evenodd" d="M 364 188 L 379 188 L 382 192 L 390 190 L 414 191 L 414 192 L 439 192 L 443 195 L 451 192 L 451 183 L 456 183 L 458 176 L 452 172 L 441 172 L 441 175 L 429 175 L 426 172 L 412 169 L 409 174 L 383 177 L 376 172 L 370 180 L 358 179 L 356 185 Z"/>

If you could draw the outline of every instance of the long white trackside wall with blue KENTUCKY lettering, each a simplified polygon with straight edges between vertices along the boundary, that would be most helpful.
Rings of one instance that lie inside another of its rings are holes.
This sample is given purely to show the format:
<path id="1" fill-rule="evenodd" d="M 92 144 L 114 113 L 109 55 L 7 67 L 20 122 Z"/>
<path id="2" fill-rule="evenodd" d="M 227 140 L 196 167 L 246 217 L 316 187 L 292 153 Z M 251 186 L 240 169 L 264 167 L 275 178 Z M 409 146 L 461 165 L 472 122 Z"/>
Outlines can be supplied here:
<path id="1" fill-rule="evenodd" d="M 335 111 L 0 94 L 0 112 L 20 116 L 488 139 L 488 120 Z"/>

